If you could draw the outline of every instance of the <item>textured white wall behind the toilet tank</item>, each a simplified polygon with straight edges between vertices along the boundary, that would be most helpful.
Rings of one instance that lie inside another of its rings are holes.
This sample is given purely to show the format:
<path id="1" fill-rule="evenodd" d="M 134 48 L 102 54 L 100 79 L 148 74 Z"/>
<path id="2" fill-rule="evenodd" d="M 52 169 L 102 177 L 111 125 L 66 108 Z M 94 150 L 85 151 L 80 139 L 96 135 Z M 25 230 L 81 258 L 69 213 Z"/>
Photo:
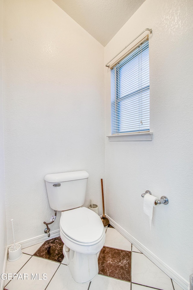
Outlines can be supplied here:
<path id="1" fill-rule="evenodd" d="M 104 47 L 51 0 L 4 1 L 8 244 L 44 234 L 44 176 L 87 170 L 85 205 L 104 173 Z M 51 230 L 59 229 L 60 214 Z"/>

